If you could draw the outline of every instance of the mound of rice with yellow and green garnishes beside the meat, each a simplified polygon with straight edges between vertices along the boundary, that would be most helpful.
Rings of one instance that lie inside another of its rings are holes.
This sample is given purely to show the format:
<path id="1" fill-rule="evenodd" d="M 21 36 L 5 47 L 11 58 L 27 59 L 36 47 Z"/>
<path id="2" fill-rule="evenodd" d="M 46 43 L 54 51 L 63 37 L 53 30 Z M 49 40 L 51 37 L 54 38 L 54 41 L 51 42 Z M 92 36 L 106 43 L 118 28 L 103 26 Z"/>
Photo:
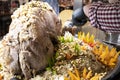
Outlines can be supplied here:
<path id="1" fill-rule="evenodd" d="M 58 49 L 48 67 L 31 80 L 111 80 L 119 69 L 116 48 L 95 41 L 89 33 L 79 32 L 76 38 L 66 32 L 58 39 Z"/>

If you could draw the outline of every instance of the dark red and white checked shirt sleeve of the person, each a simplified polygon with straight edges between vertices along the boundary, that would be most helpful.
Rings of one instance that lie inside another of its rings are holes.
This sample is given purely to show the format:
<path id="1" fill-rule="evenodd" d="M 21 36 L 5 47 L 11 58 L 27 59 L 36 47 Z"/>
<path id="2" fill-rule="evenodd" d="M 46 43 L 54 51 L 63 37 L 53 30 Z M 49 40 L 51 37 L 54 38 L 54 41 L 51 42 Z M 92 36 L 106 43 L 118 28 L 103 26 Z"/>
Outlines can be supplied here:
<path id="1" fill-rule="evenodd" d="M 92 26 L 105 32 L 120 33 L 120 2 L 93 3 L 89 9 Z"/>

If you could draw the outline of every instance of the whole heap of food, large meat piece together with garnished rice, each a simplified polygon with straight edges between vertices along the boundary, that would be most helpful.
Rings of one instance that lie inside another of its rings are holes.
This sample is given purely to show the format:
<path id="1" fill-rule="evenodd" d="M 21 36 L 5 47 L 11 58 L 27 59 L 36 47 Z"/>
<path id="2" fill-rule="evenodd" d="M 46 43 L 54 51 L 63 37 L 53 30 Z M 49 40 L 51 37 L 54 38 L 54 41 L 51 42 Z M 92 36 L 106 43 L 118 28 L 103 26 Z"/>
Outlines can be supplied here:
<path id="1" fill-rule="evenodd" d="M 0 80 L 114 80 L 120 69 L 116 48 L 90 33 L 60 34 L 61 21 L 49 4 L 18 8 L 0 41 Z"/>

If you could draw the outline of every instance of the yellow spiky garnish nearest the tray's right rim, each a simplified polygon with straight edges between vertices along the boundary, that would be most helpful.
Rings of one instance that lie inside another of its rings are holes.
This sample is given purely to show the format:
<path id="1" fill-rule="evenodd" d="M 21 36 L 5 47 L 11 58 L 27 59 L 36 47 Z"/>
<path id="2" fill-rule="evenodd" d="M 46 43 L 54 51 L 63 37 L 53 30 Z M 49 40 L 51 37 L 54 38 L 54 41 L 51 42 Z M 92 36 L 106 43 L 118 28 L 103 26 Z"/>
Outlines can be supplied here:
<path id="1" fill-rule="evenodd" d="M 103 44 L 101 44 L 99 47 L 94 46 L 93 53 L 96 55 L 96 58 L 99 61 L 109 67 L 115 66 L 119 56 L 119 52 L 116 51 L 116 48 L 109 49 L 108 46 Z"/>

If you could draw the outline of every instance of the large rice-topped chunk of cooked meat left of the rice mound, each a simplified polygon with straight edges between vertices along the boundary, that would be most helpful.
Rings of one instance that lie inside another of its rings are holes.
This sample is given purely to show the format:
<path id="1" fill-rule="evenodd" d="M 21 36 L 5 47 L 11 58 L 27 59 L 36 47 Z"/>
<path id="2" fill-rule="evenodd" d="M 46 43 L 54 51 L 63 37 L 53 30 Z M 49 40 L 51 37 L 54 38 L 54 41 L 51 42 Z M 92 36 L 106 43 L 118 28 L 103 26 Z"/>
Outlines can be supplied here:
<path id="1" fill-rule="evenodd" d="M 0 42 L 4 80 L 23 75 L 27 80 L 44 69 L 54 55 L 61 21 L 45 2 L 31 1 L 12 15 L 9 33 Z"/>

